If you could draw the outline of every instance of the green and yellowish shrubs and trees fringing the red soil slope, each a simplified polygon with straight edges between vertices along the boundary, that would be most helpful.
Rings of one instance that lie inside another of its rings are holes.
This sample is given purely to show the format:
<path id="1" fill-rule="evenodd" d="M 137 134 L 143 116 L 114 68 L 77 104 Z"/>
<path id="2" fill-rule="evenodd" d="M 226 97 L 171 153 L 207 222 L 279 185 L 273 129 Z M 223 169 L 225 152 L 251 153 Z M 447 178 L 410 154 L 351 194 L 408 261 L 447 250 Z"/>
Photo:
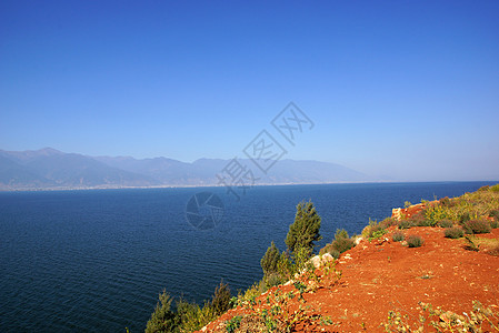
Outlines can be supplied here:
<path id="1" fill-rule="evenodd" d="M 369 219 L 369 225 L 362 230 L 362 236 L 371 241 L 385 235 L 391 225 L 397 225 L 399 230 L 391 234 L 391 239 L 395 242 L 406 241 L 402 244 L 407 243 L 408 248 L 419 248 L 425 243 L 421 236 L 416 234 L 406 236 L 405 232 L 400 230 L 412 226 L 440 226 L 445 228 L 443 234 L 446 238 L 460 239 L 465 236 L 465 249 L 467 250 L 480 250 L 480 252 L 490 255 L 499 255 L 499 240 L 473 235 L 490 232 L 491 229 L 499 226 L 499 184 L 483 186 L 475 193 L 466 193 L 459 198 L 442 198 L 439 201 L 425 202 L 425 204 L 426 206 L 421 211 L 415 214 L 411 211 L 412 215 L 408 213 L 409 218 L 402 213 L 400 221 L 391 218 L 381 222 Z M 411 210 L 415 210 L 415 208 L 411 208 Z M 305 295 L 306 293 L 313 293 L 325 285 L 332 286 L 341 278 L 341 272 L 336 270 L 336 261 L 326 263 L 319 270 L 316 270 L 310 262 L 316 243 L 321 239 L 320 224 L 321 219 L 313 204 L 300 202 L 297 205 L 295 222 L 290 225 L 286 238 L 287 250 L 280 252 L 272 242 L 261 259 L 260 264 L 263 271 L 261 281 L 255 283 L 248 290 L 239 292 L 238 297 L 231 297 L 228 285 L 220 283 L 211 301 L 204 302 L 200 306 L 181 299 L 176 303 L 176 311 L 171 309 L 172 299 L 163 292 L 148 322 L 146 332 L 191 332 L 199 330 L 233 305 L 249 310 L 250 314 L 236 315 L 226 321 L 224 325 L 221 326 L 226 332 L 253 332 L 248 330 L 288 332 L 297 327 L 298 323 L 310 325 L 333 324 L 329 317 L 320 315 L 320 310 L 317 311 L 317 309 L 307 304 L 307 296 Z M 465 235 L 465 233 L 468 235 Z M 461 242 L 458 241 L 455 244 L 461 246 Z M 352 249 L 355 244 L 355 239 L 350 238 L 346 230 L 340 229 L 337 230 L 331 243 L 321 249 L 320 254 L 330 253 L 338 259 L 341 253 Z M 383 245 L 385 240 L 378 241 L 376 244 Z M 382 249 L 382 246 L 379 249 Z M 390 256 L 388 256 L 388 261 L 390 262 Z M 431 279 L 433 275 L 428 272 L 425 272 L 420 279 Z M 331 281 L 330 284 L 325 284 L 328 279 Z M 279 285 L 290 280 L 292 280 L 291 287 L 293 290 L 282 292 Z M 278 287 L 269 291 L 272 286 Z M 267 299 L 260 296 L 267 291 L 269 291 Z M 291 303 L 291 300 L 295 301 Z M 299 303 L 297 304 L 297 302 Z M 293 305 L 291 306 L 291 304 Z M 443 312 L 438 307 L 433 310 L 431 305 L 423 303 L 421 303 L 421 313 L 426 313 L 425 322 L 421 322 L 421 325 L 436 327 L 438 332 L 445 332 L 446 330 L 480 332 L 485 322 L 499 331 L 497 329 L 499 327 L 498 313 L 481 307 L 478 302 L 473 303 L 472 315 L 466 317 Z M 442 320 L 442 315 L 445 315 L 445 320 Z M 496 326 L 491 324 L 493 320 L 496 320 Z M 388 332 L 413 331 L 407 324 L 407 317 L 396 312 L 389 313 L 388 323 L 383 326 Z M 417 330 L 421 329 L 418 327 Z"/>

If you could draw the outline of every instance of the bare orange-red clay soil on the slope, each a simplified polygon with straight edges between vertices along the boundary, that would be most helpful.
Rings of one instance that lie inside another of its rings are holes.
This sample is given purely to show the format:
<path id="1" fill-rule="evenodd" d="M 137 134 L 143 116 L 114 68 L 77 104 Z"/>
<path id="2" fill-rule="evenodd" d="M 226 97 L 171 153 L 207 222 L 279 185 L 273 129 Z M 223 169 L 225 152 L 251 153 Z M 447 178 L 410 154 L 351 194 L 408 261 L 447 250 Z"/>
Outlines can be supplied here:
<path id="1" fill-rule="evenodd" d="M 337 269 L 340 281 L 322 285 L 315 293 L 306 293 L 307 304 L 335 324 L 320 326 L 302 323 L 296 332 L 383 332 L 388 312 L 407 314 L 417 323 L 418 302 L 441 306 L 461 314 L 472 309 L 472 301 L 498 309 L 499 258 L 465 249 L 463 239 L 443 238 L 441 228 L 412 228 L 407 235 L 417 234 L 425 240 L 421 248 L 408 248 L 391 240 L 390 233 L 372 242 L 361 241 L 345 252 Z M 499 239 L 499 229 L 485 238 Z M 281 286 L 283 292 L 295 286 Z M 276 290 L 276 289 L 272 289 Z M 272 291 L 271 290 L 271 291 Z M 257 300 L 266 299 L 266 294 Z M 291 302 L 297 302 L 297 297 Z M 224 332 L 222 323 L 234 315 L 247 313 L 241 307 L 230 310 L 203 332 Z M 362 329 L 362 325 L 365 325 Z M 417 325 L 415 325 L 417 327 Z"/>

